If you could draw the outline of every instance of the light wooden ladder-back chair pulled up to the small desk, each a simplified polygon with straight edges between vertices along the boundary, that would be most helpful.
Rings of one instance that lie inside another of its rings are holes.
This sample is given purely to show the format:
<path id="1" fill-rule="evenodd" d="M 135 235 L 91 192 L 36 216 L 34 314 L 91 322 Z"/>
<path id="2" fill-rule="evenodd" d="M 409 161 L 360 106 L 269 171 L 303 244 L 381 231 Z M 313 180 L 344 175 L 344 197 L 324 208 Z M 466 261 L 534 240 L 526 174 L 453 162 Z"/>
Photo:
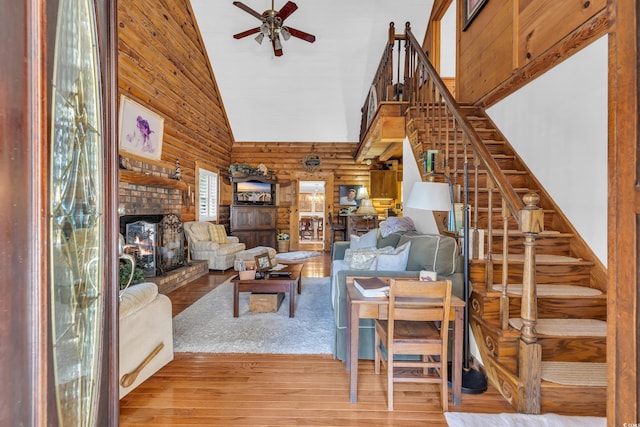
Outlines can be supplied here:
<path id="1" fill-rule="evenodd" d="M 442 410 L 448 410 L 447 347 L 451 281 L 423 282 L 391 279 L 388 320 L 375 321 L 375 372 L 380 373 L 382 350 L 387 352 L 387 402 L 393 411 L 393 384 L 440 385 Z M 394 360 L 412 355 L 415 360 Z M 400 369 L 395 369 L 400 368 Z M 409 368 L 409 369 L 407 369 Z"/>

